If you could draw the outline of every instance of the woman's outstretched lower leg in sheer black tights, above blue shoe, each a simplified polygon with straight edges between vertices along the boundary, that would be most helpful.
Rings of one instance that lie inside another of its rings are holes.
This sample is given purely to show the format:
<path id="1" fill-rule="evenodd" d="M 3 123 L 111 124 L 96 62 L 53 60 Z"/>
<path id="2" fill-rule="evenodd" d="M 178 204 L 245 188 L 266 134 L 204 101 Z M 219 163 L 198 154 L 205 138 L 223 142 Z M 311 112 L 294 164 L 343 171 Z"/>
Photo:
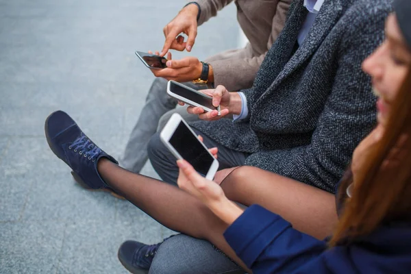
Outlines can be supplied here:
<path id="1" fill-rule="evenodd" d="M 175 186 L 126 171 L 105 158 L 99 160 L 97 169 L 106 184 L 153 219 L 177 232 L 209 240 L 246 269 L 225 241 L 227 225 L 201 201 Z"/>

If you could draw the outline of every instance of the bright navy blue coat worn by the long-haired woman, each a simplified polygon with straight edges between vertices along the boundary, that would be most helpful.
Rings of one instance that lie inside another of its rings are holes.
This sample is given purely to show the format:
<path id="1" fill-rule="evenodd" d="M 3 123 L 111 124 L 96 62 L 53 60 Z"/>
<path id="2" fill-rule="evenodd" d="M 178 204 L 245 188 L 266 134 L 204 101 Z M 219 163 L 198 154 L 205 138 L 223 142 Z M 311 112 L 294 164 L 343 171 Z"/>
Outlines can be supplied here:
<path id="1" fill-rule="evenodd" d="M 228 227 L 225 239 L 258 273 L 411 273 L 411 223 L 379 227 L 347 246 L 327 247 L 258 205 Z"/>

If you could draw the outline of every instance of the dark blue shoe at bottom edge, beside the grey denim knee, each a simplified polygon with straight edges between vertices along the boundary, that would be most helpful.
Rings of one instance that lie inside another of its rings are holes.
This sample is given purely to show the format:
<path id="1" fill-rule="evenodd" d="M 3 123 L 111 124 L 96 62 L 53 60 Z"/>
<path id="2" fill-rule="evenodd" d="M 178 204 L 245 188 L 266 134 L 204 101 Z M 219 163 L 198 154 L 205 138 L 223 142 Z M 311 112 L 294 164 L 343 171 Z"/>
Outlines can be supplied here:
<path id="1" fill-rule="evenodd" d="M 155 253 L 157 253 L 158 247 L 160 247 L 164 240 L 155 245 L 145 245 L 142 242 L 136 242 L 135 240 L 127 240 L 123 242 L 123 245 L 119 248 L 117 256 L 125 269 L 131 273 L 149 273 Z"/>

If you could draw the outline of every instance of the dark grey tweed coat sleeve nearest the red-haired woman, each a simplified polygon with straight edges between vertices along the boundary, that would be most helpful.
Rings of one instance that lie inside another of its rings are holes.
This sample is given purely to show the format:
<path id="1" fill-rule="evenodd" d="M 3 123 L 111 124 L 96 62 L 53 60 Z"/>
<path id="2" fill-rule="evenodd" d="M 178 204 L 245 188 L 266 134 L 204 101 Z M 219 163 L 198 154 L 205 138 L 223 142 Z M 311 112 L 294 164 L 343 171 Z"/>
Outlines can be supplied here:
<path id="1" fill-rule="evenodd" d="M 386 15 L 386 10 L 370 11 L 370 18 L 353 21 L 342 38 L 347 42 L 340 47 L 332 90 L 310 144 L 254 153 L 246 165 L 334 192 L 352 151 L 375 125 L 371 79 L 362 71 L 361 63 L 382 41 Z"/>

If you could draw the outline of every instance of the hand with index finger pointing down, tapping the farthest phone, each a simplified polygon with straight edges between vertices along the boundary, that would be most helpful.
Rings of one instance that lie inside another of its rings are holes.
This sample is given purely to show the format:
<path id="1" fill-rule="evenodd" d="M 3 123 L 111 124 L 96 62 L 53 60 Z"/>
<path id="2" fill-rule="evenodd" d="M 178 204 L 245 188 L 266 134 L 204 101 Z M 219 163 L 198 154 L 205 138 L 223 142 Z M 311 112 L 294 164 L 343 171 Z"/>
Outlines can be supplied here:
<path id="1" fill-rule="evenodd" d="M 186 49 L 187 51 L 191 51 L 197 36 L 198 14 L 199 8 L 197 5 L 191 3 L 186 5 L 186 7 L 184 7 L 177 16 L 164 27 L 163 32 L 166 37 L 166 42 L 164 42 L 160 56 L 164 56 L 169 49 L 175 49 L 177 51 L 184 51 L 184 49 Z M 182 36 L 178 36 L 181 33 L 188 36 L 187 42 L 184 42 Z"/>

